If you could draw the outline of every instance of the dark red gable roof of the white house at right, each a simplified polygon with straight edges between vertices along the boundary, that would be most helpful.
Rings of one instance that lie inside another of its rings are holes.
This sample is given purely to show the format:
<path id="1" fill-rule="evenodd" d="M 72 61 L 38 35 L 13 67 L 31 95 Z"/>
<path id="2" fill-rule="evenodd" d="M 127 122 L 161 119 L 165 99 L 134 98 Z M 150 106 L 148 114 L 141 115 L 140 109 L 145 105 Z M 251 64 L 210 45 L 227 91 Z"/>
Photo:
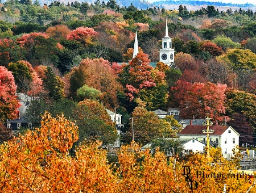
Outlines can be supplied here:
<path id="1" fill-rule="evenodd" d="M 203 129 L 206 129 L 207 127 L 205 125 L 187 125 L 180 133 L 179 135 L 206 135 L 206 133 L 203 133 Z M 226 129 L 231 128 L 234 132 L 236 132 L 232 127 L 230 126 L 223 126 L 223 125 L 212 125 L 209 126 L 209 129 L 214 130 L 213 133 L 209 133 L 209 135 L 222 135 L 226 131 Z M 237 132 L 236 132 L 237 133 Z M 239 133 L 237 133 L 239 135 Z"/>

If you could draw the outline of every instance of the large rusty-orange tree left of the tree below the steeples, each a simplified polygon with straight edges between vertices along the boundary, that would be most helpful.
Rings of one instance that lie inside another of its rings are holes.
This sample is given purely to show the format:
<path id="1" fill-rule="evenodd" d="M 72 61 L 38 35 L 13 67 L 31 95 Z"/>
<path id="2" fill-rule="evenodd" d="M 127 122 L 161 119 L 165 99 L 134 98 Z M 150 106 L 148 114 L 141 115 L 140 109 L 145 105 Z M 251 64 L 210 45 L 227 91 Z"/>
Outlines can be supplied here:
<path id="1" fill-rule="evenodd" d="M 108 61 L 103 58 L 86 58 L 72 71 L 70 91 L 71 94 L 75 94 L 77 89 L 86 84 L 100 91 L 103 94 L 101 100 L 104 105 L 113 109 L 118 106 L 117 93 L 122 92 L 122 86 L 117 78 Z"/>

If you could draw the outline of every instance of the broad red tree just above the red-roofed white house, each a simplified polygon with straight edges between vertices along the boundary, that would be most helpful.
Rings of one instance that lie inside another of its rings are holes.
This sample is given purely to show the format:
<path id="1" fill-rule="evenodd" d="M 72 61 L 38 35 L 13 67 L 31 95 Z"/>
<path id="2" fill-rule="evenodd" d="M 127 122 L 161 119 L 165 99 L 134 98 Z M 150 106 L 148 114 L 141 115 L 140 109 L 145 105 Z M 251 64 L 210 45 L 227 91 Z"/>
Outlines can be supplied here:
<path id="1" fill-rule="evenodd" d="M 206 114 L 213 120 L 221 120 L 225 114 L 224 100 L 226 85 L 217 83 L 188 83 L 177 81 L 172 88 L 172 100 L 182 108 L 180 117 L 204 119 Z"/>

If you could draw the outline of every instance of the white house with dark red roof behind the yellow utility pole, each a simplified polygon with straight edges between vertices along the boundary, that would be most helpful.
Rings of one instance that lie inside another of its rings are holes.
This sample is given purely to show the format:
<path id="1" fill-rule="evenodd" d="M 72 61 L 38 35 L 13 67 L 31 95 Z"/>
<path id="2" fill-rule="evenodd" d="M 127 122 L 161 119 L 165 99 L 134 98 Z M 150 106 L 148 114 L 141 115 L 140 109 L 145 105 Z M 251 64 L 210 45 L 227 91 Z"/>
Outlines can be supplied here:
<path id="1" fill-rule="evenodd" d="M 203 144 L 207 144 L 207 135 L 203 133 L 203 129 L 206 129 L 205 125 L 187 125 L 180 133 L 180 139 L 196 139 Z M 209 129 L 213 130 L 213 133 L 209 134 L 210 146 L 221 148 L 221 152 L 225 158 L 229 158 L 233 155 L 233 148 L 236 148 L 239 144 L 239 136 L 231 126 L 224 125 L 212 125 Z"/>

